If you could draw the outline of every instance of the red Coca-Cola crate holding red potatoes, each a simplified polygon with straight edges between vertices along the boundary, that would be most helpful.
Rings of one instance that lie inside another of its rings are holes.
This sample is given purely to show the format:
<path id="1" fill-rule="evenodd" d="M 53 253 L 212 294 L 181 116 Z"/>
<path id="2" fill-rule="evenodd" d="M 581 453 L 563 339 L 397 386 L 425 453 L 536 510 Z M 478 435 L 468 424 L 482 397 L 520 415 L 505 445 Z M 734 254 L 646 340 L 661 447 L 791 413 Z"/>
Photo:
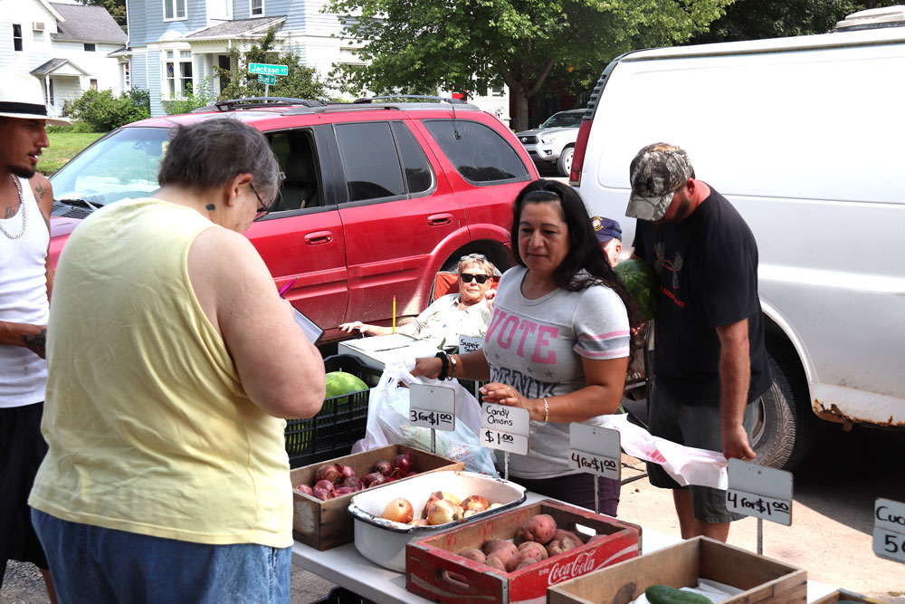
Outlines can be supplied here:
<path id="1" fill-rule="evenodd" d="M 511 540 L 519 526 L 538 513 L 553 516 L 558 528 L 575 532 L 586 542 L 574 550 L 512 572 L 496 570 L 457 554 L 480 548 L 488 539 Z M 584 527 L 584 531 L 576 529 L 576 524 Z M 588 536 L 586 531 L 595 534 Z M 524 604 L 546 598 L 550 585 L 636 557 L 640 543 L 641 527 L 636 524 L 547 499 L 409 542 L 405 551 L 405 589 L 438 602 Z"/>

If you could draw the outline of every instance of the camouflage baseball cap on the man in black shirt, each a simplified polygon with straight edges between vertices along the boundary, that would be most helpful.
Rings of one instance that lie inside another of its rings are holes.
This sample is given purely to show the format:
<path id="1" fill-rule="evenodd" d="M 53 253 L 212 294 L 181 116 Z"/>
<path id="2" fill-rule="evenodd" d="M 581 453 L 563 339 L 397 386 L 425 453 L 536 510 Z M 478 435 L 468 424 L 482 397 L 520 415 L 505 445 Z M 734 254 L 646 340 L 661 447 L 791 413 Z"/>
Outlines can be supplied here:
<path id="1" fill-rule="evenodd" d="M 672 196 L 694 174 L 685 151 L 664 142 L 638 151 L 629 167 L 632 195 L 625 216 L 660 220 L 672 203 Z"/>

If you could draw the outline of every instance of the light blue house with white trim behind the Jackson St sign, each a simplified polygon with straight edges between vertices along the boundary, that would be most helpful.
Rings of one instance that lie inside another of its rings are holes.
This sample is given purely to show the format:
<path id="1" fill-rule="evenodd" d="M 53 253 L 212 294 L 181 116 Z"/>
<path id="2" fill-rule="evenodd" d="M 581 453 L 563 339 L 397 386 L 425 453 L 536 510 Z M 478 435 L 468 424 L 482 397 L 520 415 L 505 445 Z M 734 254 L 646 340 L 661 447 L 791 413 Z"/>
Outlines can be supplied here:
<path id="1" fill-rule="evenodd" d="M 229 51 L 245 50 L 270 27 L 277 48 L 300 56 L 326 77 L 334 64 L 359 62 L 356 44 L 341 37 L 336 14 L 323 13 L 327 0 L 127 0 L 129 44 L 119 53 L 132 86 L 150 91 L 151 115 L 165 113 L 161 99 L 201 90 L 205 80 L 218 95 L 222 82 L 214 66 L 229 68 Z M 488 91 L 473 99 L 508 119 L 509 91 Z"/>

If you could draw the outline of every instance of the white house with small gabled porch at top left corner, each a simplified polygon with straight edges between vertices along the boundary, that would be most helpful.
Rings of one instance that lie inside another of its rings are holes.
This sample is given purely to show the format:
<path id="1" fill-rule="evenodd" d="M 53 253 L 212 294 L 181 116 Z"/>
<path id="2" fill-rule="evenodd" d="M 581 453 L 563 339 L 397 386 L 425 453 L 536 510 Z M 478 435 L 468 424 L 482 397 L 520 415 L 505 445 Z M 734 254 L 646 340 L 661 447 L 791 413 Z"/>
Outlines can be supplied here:
<path id="1" fill-rule="evenodd" d="M 127 38 L 103 7 L 0 0 L 0 32 L 0 67 L 40 79 L 57 115 L 89 87 L 122 91 L 118 61 L 108 55 Z"/>

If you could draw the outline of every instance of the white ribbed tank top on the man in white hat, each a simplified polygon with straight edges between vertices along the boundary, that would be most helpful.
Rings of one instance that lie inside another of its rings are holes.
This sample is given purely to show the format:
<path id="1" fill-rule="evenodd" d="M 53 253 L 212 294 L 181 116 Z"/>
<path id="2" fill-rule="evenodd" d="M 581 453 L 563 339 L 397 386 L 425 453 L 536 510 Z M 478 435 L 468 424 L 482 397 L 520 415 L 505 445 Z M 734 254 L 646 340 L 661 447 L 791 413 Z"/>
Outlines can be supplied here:
<path id="1" fill-rule="evenodd" d="M 18 180 L 23 204 L 12 218 L 0 219 L 0 321 L 46 325 L 44 259 L 50 233 L 28 180 Z M 40 403 L 46 381 L 47 366 L 41 357 L 23 346 L 0 344 L 0 407 Z"/>

